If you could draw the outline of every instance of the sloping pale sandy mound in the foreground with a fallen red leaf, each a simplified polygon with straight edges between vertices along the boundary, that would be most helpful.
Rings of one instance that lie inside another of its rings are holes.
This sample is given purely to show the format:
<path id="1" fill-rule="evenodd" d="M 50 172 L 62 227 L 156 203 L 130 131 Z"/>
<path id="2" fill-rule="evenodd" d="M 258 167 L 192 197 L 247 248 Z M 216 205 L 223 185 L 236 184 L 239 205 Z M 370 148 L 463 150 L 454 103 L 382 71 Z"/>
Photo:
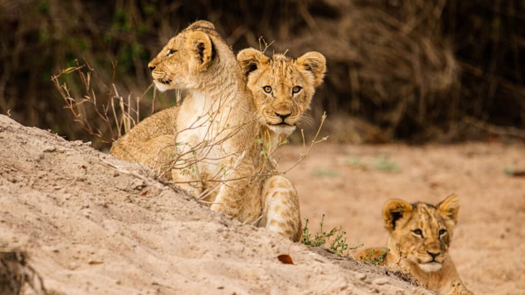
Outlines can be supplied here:
<path id="1" fill-rule="evenodd" d="M 0 146 L 0 247 L 27 251 L 54 293 L 427 293 L 379 268 L 332 264 L 211 212 L 138 165 L 3 115 Z"/>

